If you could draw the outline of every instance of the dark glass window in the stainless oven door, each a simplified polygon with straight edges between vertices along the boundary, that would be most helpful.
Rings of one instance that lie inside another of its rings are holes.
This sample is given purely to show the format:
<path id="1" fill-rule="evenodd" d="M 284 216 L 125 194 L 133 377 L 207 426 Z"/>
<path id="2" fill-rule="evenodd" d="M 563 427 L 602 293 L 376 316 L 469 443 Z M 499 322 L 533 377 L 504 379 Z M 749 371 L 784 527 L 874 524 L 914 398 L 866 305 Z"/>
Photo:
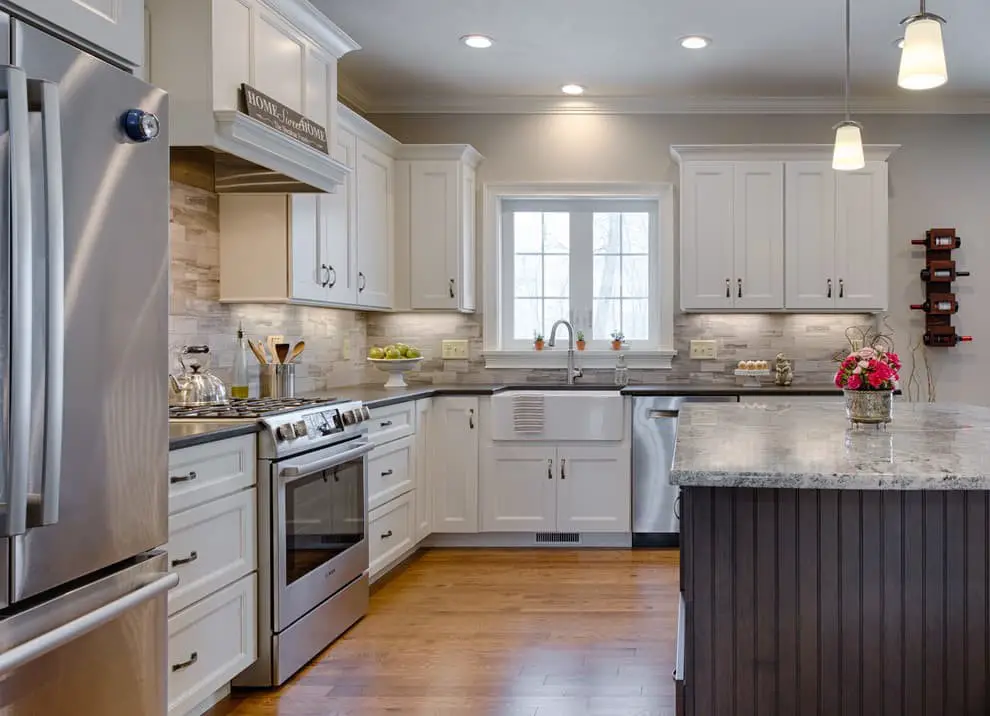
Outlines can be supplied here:
<path id="1" fill-rule="evenodd" d="M 285 581 L 292 584 L 364 539 L 364 461 L 285 486 Z"/>

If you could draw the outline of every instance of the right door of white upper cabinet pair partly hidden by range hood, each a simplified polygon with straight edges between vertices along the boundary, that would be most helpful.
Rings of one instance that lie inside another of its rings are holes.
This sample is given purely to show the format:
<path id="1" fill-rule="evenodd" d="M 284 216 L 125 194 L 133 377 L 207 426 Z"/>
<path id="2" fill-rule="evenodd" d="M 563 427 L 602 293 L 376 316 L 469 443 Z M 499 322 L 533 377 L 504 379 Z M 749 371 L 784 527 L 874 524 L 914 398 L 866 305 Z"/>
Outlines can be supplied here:
<path id="1" fill-rule="evenodd" d="M 340 132 L 333 158 L 353 168 L 357 144 L 353 134 Z M 326 300 L 357 303 L 357 234 L 354 174 L 334 194 L 320 197 L 320 273 L 327 282 Z M 324 265 L 326 268 L 324 269 Z"/>

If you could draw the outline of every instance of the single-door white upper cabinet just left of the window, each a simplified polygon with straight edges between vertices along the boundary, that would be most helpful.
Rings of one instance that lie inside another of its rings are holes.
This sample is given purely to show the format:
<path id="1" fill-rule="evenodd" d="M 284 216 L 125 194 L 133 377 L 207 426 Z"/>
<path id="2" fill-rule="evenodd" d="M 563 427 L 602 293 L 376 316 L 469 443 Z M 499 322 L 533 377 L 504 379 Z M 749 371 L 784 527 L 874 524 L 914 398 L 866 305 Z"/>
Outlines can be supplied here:
<path id="1" fill-rule="evenodd" d="M 407 145 L 396 162 L 396 299 L 411 310 L 476 307 L 475 170 L 469 145 Z"/>

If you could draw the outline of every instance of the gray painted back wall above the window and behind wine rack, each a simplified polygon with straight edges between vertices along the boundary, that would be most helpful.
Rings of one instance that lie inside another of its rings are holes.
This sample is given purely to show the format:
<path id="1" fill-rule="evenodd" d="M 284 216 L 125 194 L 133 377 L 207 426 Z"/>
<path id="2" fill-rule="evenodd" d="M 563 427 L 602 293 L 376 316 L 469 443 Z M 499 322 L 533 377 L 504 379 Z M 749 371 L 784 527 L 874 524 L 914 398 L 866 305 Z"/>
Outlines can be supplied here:
<path id="1" fill-rule="evenodd" d="M 931 397 L 990 404 L 990 380 L 982 370 L 990 357 L 990 311 L 983 308 L 990 303 L 990 288 L 982 288 L 990 275 L 990 119 L 975 115 L 856 118 L 865 125 L 867 143 L 902 145 L 890 160 L 890 323 L 906 359 L 905 387 L 914 393 L 917 385 L 918 396 L 929 397 L 923 351 L 914 351 L 912 361 L 911 346 L 920 339 L 923 320 L 907 306 L 923 296 L 918 279 L 923 252 L 914 250 L 910 239 L 929 227 L 954 226 L 963 237 L 956 258 L 973 272 L 957 285 L 962 307 L 955 323 L 958 332 L 972 334 L 975 342 L 928 352 L 935 388 Z M 488 181 L 676 182 L 671 144 L 827 144 L 837 117 L 374 115 L 369 119 L 402 142 L 474 145 L 485 155 L 479 169 L 479 185 L 483 185 Z M 843 325 L 849 318 L 843 317 Z M 401 319 L 390 320 L 392 329 L 400 330 L 395 321 Z M 372 326 L 379 323 L 373 321 Z M 793 337 L 800 360 L 803 342 L 800 335 Z M 840 347 L 841 342 L 836 348 Z M 913 364 L 917 383 L 908 385 Z M 691 372 L 698 369 L 693 366 Z"/>

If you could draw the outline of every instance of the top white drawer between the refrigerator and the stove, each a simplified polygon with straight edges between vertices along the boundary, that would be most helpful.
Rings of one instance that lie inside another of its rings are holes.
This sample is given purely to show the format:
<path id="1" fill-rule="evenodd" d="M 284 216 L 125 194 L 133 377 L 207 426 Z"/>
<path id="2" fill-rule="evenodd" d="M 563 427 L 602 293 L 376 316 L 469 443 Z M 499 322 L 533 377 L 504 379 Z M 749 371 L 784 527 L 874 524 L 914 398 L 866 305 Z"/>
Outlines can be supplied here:
<path id="1" fill-rule="evenodd" d="M 168 455 L 168 512 L 201 505 L 255 484 L 255 436 L 218 440 Z"/>

